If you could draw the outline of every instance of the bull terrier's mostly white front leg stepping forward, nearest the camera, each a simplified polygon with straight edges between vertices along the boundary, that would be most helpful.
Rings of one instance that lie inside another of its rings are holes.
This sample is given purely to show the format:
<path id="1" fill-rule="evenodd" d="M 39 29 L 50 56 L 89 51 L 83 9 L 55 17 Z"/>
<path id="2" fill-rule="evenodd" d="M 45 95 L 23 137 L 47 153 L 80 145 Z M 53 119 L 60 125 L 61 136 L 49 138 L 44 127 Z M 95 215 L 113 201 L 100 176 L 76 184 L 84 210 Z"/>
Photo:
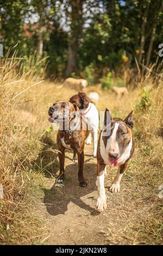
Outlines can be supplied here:
<path id="1" fill-rule="evenodd" d="M 105 177 L 105 164 L 100 164 L 97 162 L 97 188 L 98 188 L 97 210 L 98 211 L 103 211 L 107 207 L 105 187 L 104 187 L 104 177 Z"/>

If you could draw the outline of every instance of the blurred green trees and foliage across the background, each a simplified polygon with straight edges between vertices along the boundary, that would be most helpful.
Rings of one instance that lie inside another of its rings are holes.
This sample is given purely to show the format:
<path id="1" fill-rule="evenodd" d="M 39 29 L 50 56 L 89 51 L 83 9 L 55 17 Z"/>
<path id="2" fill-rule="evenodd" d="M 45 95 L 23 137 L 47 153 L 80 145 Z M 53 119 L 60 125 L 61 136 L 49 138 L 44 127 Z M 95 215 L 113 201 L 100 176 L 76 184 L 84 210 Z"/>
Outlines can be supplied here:
<path id="1" fill-rule="evenodd" d="M 4 52 L 17 44 L 24 62 L 35 52 L 48 56 L 53 79 L 76 75 L 93 83 L 91 76 L 97 81 L 109 71 L 121 76 L 135 68 L 135 58 L 148 67 L 163 37 L 161 0 L 4 0 L 0 10 Z"/>

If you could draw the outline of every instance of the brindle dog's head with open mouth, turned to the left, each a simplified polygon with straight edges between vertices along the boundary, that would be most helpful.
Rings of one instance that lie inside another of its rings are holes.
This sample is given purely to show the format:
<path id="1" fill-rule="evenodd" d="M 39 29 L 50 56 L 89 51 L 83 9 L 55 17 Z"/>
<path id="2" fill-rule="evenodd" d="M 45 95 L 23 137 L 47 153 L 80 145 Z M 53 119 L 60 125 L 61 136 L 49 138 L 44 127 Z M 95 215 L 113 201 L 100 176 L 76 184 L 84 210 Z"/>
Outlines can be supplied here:
<path id="1" fill-rule="evenodd" d="M 53 106 L 49 107 L 49 121 L 51 123 L 65 122 L 68 123 L 76 116 L 76 112 L 79 112 L 79 108 L 76 103 L 69 101 L 58 100 L 53 103 Z"/>

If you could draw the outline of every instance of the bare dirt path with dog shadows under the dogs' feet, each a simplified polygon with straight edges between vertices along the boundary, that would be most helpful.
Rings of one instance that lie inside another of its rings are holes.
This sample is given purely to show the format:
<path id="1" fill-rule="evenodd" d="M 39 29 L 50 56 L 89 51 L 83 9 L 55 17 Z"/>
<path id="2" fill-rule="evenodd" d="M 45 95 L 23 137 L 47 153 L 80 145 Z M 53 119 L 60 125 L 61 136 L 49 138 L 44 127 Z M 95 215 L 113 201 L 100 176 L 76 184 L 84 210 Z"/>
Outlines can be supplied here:
<path id="1" fill-rule="evenodd" d="M 108 208 L 101 214 L 96 211 L 96 159 L 90 155 L 91 152 L 92 145 L 85 145 L 86 188 L 78 185 L 78 167 L 72 162 L 70 151 L 66 152 L 64 186 L 56 188 L 54 179 L 45 177 L 44 196 L 37 215 L 46 220 L 46 243 L 49 245 L 135 244 L 137 231 L 133 231 L 133 225 L 135 218 L 140 218 L 145 209 L 137 208 L 136 201 L 131 203 L 131 191 L 125 178 L 122 179 L 120 193 L 109 192 L 116 173 L 112 170 L 105 180 Z"/>

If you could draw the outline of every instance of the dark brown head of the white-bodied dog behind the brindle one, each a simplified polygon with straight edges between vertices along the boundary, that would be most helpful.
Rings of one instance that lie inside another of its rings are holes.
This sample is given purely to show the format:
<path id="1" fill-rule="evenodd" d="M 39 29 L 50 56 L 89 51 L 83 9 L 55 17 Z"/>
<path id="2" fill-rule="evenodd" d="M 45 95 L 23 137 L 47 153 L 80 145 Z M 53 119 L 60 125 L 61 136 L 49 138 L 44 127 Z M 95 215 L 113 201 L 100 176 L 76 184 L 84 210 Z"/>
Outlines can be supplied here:
<path id="1" fill-rule="evenodd" d="M 85 109 L 89 106 L 90 99 L 85 93 L 79 92 L 70 98 L 70 102 L 76 103 L 79 109 Z"/>

